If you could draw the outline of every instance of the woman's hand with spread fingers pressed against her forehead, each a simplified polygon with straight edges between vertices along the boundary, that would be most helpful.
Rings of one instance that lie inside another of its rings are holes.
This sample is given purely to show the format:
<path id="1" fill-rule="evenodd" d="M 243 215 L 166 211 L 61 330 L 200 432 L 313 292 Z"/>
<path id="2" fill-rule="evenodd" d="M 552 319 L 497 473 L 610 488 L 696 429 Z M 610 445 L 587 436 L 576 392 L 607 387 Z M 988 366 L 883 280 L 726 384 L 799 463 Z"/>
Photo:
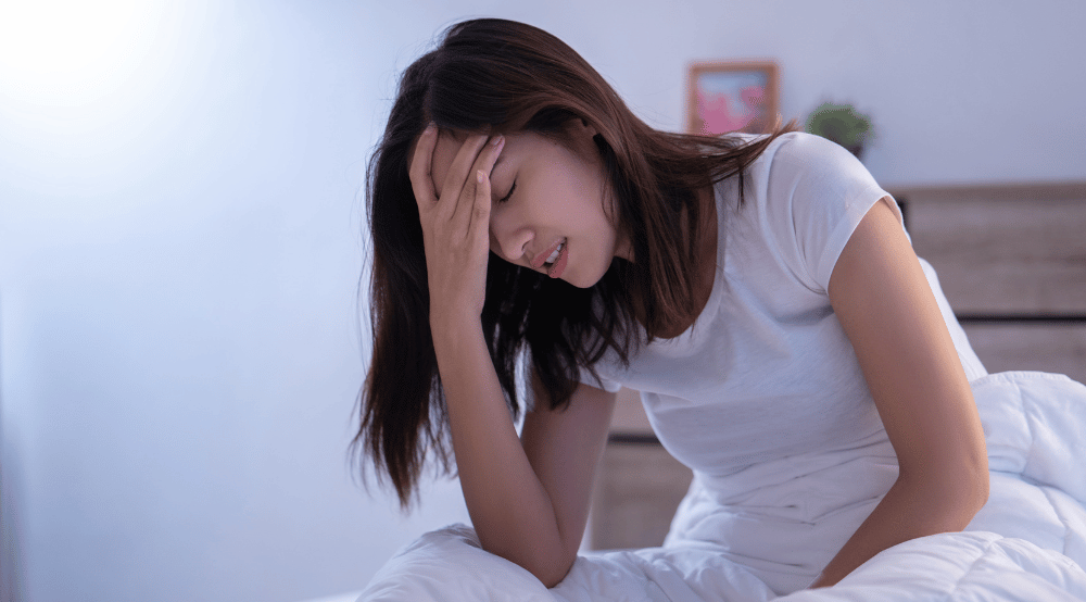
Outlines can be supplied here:
<path id="1" fill-rule="evenodd" d="M 434 195 L 431 172 L 437 141 L 438 128 L 430 125 L 419 137 L 409 170 L 422 225 L 431 324 L 482 314 L 490 251 L 490 172 L 505 138 L 469 135 L 440 193 Z"/>

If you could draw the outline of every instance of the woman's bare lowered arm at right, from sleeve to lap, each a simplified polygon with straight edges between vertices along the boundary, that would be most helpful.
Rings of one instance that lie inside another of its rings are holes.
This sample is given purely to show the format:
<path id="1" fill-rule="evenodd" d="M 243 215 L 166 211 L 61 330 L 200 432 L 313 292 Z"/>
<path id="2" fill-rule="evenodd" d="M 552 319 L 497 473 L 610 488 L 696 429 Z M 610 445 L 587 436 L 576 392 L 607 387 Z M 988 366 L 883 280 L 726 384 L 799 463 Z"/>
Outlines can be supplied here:
<path id="1" fill-rule="evenodd" d="M 885 202 L 883 202 L 885 201 Z M 886 203 L 868 212 L 830 276 L 829 296 L 897 454 L 897 481 L 811 587 L 882 550 L 963 529 L 988 497 L 972 389 L 927 279 Z"/>

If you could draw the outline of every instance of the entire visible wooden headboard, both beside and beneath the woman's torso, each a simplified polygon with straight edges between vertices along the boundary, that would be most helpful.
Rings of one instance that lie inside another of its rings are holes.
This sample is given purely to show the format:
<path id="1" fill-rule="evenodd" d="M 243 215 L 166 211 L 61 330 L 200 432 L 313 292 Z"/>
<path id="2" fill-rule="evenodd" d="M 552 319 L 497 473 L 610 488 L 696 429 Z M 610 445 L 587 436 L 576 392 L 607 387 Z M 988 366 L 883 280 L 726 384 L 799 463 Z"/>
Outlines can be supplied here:
<path id="1" fill-rule="evenodd" d="M 989 373 L 1086 382 L 1086 181 L 887 191 Z M 691 477 L 656 440 L 640 394 L 622 389 L 586 545 L 659 545 Z"/>

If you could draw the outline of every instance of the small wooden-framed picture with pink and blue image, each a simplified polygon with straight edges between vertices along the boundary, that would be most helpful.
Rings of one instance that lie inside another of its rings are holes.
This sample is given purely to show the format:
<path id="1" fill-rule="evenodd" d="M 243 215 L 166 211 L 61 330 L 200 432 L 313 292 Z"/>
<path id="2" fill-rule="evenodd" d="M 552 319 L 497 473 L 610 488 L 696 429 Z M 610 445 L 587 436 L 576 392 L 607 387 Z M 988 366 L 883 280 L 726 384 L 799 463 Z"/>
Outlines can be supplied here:
<path id="1" fill-rule="evenodd" d="M 692 63 L 686 92 L 686 131 L 716 136 L 763 134 L 776 122 L 776 63 Z"/>

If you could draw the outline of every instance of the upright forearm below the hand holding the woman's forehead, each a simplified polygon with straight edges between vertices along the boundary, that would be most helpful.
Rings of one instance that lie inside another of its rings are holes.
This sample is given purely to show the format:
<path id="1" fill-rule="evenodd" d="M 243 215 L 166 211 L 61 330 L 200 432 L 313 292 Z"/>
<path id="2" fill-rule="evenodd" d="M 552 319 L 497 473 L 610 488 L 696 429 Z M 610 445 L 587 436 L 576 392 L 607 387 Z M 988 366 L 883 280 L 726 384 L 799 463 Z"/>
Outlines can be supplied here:
<path id="1" fill-rule="evenodd" d="M 478 319 L 434 325 L 453 452 L 471 523 L 484 550 L 547 586 L 569 568 L 554 507 L 517 436 Z"/>

